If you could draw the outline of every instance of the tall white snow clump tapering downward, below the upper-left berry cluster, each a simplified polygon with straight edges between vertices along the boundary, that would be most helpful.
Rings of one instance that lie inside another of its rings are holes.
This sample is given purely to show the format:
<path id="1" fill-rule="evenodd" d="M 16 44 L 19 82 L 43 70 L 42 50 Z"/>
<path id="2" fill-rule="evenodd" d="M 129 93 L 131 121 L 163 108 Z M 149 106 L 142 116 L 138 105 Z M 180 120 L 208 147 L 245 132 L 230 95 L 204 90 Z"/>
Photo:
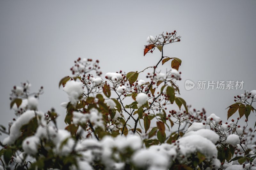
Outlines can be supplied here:
<path id="1" fill-rule="evenodd" d="M 84 92 L 83 83 L 80 81 L 68 81 L 63 88 L 68 94 L 68 99 L 73 106 L 76 106 L 77 101 Z"/>

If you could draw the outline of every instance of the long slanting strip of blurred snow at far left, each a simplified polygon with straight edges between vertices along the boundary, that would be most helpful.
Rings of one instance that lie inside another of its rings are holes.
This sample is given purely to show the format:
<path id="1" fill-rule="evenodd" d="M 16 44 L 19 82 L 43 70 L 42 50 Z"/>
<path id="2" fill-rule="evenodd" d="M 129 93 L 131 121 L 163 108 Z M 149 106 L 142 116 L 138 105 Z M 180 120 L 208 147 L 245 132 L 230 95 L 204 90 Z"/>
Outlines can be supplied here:
<path id="1" fill-rule="evenodd" d="M 12 124 L 10 128 L 10 136 L 6 137 L 3 141 L 3 144 L 14 144 L 16 139 L 18 139 L 21 136 L 20 128 L 28 124 L 28 122 L 35 117 L 35 111 L 28 110 L 24 112 L 18 119 Z"/>

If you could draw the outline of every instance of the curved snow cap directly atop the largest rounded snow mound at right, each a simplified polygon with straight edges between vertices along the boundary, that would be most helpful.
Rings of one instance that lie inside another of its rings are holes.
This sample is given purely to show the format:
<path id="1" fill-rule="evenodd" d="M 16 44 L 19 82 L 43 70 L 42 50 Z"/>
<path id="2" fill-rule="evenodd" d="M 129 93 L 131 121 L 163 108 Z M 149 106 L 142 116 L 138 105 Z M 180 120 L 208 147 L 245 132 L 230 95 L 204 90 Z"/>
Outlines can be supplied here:
<path id="1" fill-rule="evenodd" d="M 184 137 L 189 135 L 199 135 L 201 137 L 205 137 L 212 141 L 213 144 L 215 144 L 220 139 L 219 135 L 210 129 L 199 129 L 197 131 L 186 132 Z"/>

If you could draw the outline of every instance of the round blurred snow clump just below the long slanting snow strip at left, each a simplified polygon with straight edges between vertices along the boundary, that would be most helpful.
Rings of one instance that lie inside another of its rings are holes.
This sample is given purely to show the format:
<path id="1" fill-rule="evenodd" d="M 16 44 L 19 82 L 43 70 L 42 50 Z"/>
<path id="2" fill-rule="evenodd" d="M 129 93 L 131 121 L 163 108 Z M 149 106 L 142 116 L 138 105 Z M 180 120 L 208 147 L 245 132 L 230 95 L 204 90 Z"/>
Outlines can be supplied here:
<path id="1" fill-rule="evenodd" d="M 40 139 L 36 136 L 27 137 L 22 142 L 22 148 L 25 153 L 30 155 L 36 155 L 38 145 L 40 144 Z"/>

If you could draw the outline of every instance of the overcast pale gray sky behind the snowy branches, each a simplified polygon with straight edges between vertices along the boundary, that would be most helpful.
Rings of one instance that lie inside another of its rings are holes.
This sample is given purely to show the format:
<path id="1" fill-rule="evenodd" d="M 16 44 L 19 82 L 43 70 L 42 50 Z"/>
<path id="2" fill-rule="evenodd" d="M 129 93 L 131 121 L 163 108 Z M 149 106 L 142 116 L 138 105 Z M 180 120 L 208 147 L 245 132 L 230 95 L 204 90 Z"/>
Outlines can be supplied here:
<path id="1" fill-rule="evenodd" d="M 70 75 L 75 59 L 99 59 L 103 75 L 140 71 L 156 65 L 161 55 L 156 50 L 143 56 L 147 37 L 173 30 L 181 41 L 166 46 L 164 55 L 182 60 L 181 97 L 193 108 L 204 107 L 208 115 L 226 120 L 225 108 L 233 96 L 256 89 L 255 9 L 254 0 L 0 0 L 0 124 L 6 126 L 15 117 L 9 109 L 13 85 L 29 80 L 31 91 L 44 86 L 39 109 L 54 107 L 64 128 L 66 112 L 60 103 L 68 98 L 58 83 Z M 186 91 L 186 79 L 244 80 L 244 90 Z M 251 126 L 254 120 L 250 115 Z"/>

